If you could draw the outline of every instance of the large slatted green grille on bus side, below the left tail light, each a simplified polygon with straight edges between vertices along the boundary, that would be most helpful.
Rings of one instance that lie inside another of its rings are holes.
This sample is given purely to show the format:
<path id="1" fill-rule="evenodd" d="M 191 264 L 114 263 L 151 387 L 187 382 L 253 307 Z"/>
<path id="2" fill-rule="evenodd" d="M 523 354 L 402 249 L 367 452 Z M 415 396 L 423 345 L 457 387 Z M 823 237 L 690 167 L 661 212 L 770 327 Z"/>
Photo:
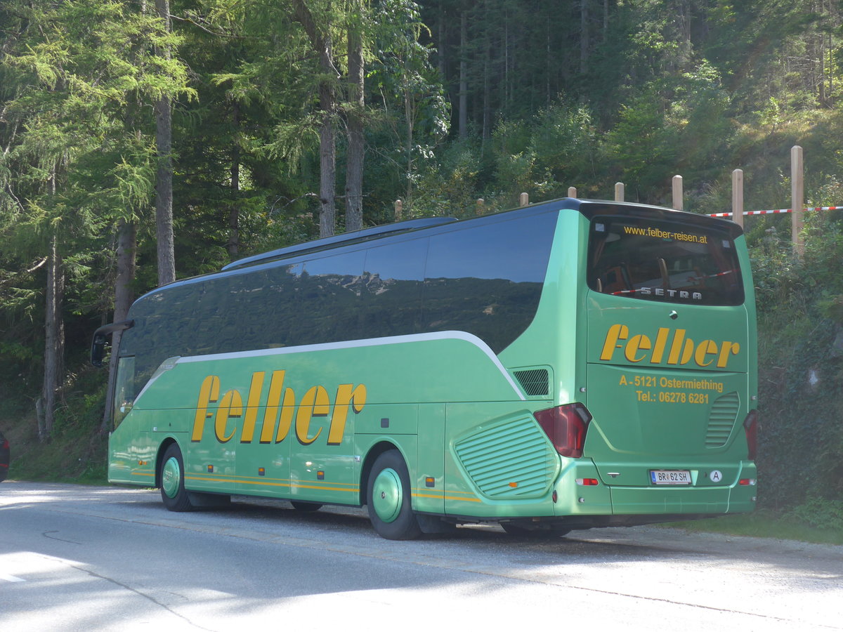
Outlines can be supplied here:
<path id="1" fill-rule="evenodd" d="M 559 456 L 530 416 L 481 430 L 454 444 L 459 463 L 483 495 L 534 498 L 556 479 Z"/>

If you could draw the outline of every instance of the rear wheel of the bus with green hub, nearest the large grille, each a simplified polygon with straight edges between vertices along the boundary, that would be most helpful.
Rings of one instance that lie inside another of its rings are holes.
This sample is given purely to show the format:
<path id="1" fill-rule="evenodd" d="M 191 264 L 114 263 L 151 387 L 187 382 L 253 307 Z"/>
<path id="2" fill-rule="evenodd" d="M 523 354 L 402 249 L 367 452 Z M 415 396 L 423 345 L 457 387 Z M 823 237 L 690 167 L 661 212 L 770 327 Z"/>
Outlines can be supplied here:
<path id="1" fill-rule="evenodd" d="M 388 540 L 411 540 L 421 535 L 411 509 L 410 474 L 397 450 L 375 459 L 368 477 L 369 520 L 374 530 Z"/>

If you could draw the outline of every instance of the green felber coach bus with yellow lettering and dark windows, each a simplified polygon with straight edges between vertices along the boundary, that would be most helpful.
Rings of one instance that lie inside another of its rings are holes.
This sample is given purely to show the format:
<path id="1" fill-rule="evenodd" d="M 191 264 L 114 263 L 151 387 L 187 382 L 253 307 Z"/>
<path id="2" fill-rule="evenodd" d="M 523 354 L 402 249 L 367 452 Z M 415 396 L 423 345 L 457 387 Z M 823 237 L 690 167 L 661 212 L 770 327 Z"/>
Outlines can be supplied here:
<path id="1" fill-rule="evenodd" d="M 120 331 L 109 480 L 367 506 L 384 538 L 751 511 L 733 222 L 564 199 L 318 239 L 158 287 Z"/>

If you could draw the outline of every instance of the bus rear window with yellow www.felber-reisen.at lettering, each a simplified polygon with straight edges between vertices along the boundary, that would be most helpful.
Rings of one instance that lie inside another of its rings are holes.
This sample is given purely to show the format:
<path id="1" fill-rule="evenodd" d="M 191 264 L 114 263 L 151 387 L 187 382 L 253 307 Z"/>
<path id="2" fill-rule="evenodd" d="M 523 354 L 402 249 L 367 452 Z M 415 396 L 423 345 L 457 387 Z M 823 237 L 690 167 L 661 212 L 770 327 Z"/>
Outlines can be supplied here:
<path id="1" fill-rule="evenodd" d="M 641 217 L 594 217 L 588 287 L 665 303 L 739 305 L 744 287 L 731 236 Z"/>

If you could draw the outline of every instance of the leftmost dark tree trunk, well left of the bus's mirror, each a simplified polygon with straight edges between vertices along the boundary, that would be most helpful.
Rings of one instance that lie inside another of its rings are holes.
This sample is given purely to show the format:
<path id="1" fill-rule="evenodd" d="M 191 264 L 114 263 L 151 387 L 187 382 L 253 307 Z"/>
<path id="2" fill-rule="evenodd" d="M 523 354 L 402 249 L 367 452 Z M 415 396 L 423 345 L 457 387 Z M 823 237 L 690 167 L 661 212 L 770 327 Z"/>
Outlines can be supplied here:
<path id="1" fill-rule="evenodd" d="M 50 256 L 47 261 L 44 385 L 41 391 L 43 416 L 39 418 L 38 438 L 44 442 L 50 439 L 56 419 L 56 404 L 60 399 L 64 378 L 64 321 L 62 301 L 64 297 L 64 271 L 62 258 L 58 254 L 58 238 L 50 241 Z"/>

